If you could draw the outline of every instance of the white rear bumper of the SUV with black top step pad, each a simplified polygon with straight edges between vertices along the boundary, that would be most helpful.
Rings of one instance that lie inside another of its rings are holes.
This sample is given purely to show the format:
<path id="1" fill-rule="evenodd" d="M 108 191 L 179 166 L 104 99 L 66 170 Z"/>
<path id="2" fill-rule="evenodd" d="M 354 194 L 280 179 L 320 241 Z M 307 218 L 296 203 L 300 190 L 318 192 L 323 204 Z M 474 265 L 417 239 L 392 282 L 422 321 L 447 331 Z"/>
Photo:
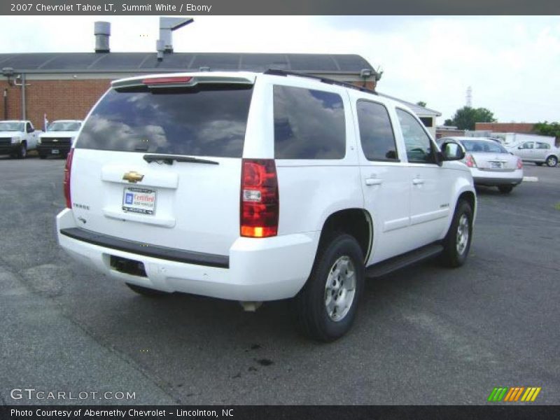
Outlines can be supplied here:
<path id="1" fill-rule="evenodd" d="M 73 235 L 68 235 L 69 232 Z M 83 237 L 77 235 L 79 233 Z M 181 262 L 178 258 L 168 259 L 165 255 L 158 256 L 158 253 L 151 252 L 154 249 L 161 251 L 156 249 L 161 247 L 150 247 L 123 239 L 117 240 L 130 243 L 129 248 L 111 244 L 105 241 L 111 237 L 78 227 L 70 209 L 64 209 L 57 216 L 60 246 L 76 260 L 103 274 L 167 292 L 241 301 L 280 300 L 295 296 L 311 272 L 319 234 L 320 232 L 311 232 L 266 239 L 240 237 L 230 248 L 229 258 L 171 250 L 182 253 L 186 258 L 189 255 L 201 258 L 193 263 Z M 97 239 L 87 240 L 87 237 Z M 147 249 L 142 253 L 137 247 Z M 116 271 L 111 267 L 111 255 L 143 262 L 146 276 Z M 225 267 L 223 262 L 227 262 Z"/>

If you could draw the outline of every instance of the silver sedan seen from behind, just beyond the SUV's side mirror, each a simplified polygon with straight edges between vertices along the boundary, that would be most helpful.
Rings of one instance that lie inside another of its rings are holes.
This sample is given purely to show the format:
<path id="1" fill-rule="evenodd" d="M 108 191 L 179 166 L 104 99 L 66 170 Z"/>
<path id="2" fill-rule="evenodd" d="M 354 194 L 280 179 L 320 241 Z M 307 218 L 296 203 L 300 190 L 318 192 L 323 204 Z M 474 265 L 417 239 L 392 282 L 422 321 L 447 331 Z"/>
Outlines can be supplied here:
<path id="1" fill-rule="evenodd" d="M 482 137 L 443 137 L 438 144 L 456 142 L 465 150 L 463 162 L 470 168 L 475 185 L 498 187 L 511 193 L 523 181 L 523 162 L 501 144 Z"/>

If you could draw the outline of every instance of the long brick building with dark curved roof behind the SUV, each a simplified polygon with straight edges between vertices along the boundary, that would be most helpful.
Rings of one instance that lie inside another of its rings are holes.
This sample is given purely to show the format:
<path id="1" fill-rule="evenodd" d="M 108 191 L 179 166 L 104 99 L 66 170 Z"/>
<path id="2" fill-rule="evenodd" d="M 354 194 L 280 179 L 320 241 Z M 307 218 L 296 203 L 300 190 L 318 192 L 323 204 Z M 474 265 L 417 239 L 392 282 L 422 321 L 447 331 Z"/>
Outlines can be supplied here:
<path id="1" fill-rule="evenodd" d="M 333 78 L 374 89 L 376 72 L 359 55 L 185 53 L 27 53 L 0 54 L 1 119 L 83 119 L 111 80 L 142 73 L 265 71 L 285 69 Z M 25 85 L 25 86 L 24 86 Z M 25 96 L 25 99 L 23 98 Z"/>

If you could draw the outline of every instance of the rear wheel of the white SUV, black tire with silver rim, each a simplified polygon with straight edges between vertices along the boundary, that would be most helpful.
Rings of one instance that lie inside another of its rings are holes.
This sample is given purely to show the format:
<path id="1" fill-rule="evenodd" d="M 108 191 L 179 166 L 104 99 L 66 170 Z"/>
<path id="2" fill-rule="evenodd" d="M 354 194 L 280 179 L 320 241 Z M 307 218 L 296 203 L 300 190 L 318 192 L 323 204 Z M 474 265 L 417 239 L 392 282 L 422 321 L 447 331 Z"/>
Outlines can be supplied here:
<path id="1" fill-rule="evenodd" d="M 343 270 L 342 278 L 332 275 L 337 269 Z M 293 313 L 300 331 L 322 342 L 332 342 L 346 334 L 356 318 L 364 278 L 363 253 L 354 237 L 338 233 L 321 241 L 311 275 L 293 299 Z M 335 288 L 336 284 L 338 288 Z M 334 305 L 330 314 L 327 309 L 329 296 Z M 336 303 L 344 301 L 346 306 L 337 309 Z"/>

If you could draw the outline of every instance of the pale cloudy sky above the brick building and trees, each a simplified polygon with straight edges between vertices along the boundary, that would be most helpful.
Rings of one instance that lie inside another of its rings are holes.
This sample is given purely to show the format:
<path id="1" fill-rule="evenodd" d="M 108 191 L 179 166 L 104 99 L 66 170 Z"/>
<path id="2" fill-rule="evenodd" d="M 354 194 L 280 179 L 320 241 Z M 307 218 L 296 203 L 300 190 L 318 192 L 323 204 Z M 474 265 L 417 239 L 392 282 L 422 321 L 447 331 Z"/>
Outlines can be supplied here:
<path id="1" fill-rule="evenodd" d="M 560 121 L 558 16 L 194 16 L 176 52 L 358 54 L 383 71 L 377 90 L 451 118 L 466 104 L 503 123 Z M 157 16 L 0 16 L 0 52 L 153 52 Z"/>

